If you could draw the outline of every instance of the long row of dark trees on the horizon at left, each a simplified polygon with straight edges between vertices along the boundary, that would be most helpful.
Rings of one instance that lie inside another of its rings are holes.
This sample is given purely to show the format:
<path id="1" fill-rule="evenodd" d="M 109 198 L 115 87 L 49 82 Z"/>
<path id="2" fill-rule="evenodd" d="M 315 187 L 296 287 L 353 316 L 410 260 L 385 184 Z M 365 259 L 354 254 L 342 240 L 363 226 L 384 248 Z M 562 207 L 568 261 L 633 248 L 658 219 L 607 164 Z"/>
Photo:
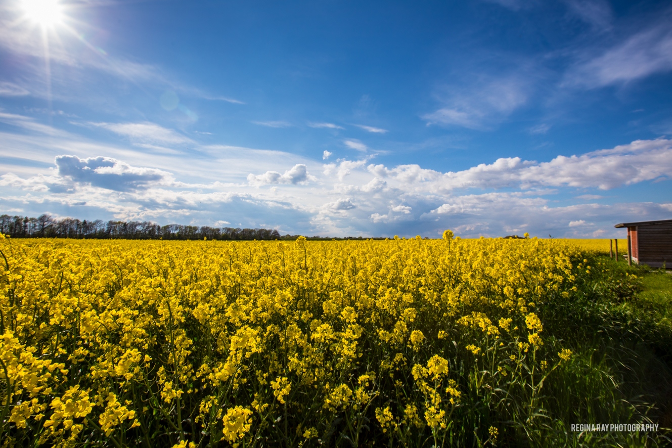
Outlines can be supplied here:
<path id="1" fill-rule="evenodd" d="M 0 233 L 12 238 L 123 238 L 129 240 L 275 240 L 282 238 L 278 230 L 267 228 L 233 228 L 209 226 L 160 226 L 149 221 L 103 221 L 52 218 L 42 214 L 0 216 Z"/>

